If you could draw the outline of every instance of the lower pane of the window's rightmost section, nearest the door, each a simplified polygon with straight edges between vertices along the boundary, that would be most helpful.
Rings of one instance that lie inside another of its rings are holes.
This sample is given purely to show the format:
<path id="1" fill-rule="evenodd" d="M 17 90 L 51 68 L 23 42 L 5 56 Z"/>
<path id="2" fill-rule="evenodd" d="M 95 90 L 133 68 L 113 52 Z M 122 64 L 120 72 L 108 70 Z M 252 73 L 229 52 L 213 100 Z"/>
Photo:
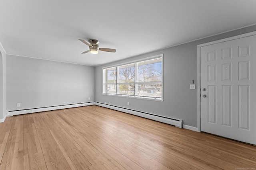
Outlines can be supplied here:
<path id="1" fill-rule="evenodd" d="M 161 98 L 162 84 L 136 84 L 136 96 Z"/>

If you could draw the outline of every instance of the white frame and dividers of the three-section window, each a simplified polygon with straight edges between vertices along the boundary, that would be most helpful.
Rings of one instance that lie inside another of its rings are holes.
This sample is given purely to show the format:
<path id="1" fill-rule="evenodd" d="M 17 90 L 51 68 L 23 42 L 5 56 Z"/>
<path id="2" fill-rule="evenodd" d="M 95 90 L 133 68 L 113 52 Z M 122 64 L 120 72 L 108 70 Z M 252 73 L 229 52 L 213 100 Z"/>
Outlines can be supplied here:
<path id="1" fill-rule="evenodd" d="M 147 61 L 147 60 L 151 60 L 151 59 L 157 59 L 157 58 L 161 58 L 162 59 L 162 83 L 161 82 L 137 82 L 137 63 L 138 62 L 141 62 L 141 61 Z M 127 62 L 127 63 L 120 63 L 118 65 L 112 65 L 112 66 L 107 66 L 107 67 L 103 67 L 102 68 L 102 78 L 103 78 L 103 81 L 102 81 L 102 95 L 106 95 L 106 96 L 118 96 L 118 97 L 126 97 L 126 98 L 138 98 L 138 99 L 144 99 L 144 100 L 154 100 L 154 101 L 160 101 L 160 102 L 163 102 L 164 100 L 164 96 L 163 96 L 163 91 L 164 91 L 164 81 L 163 81 L 163 78 L 164 78 L 164 55 L 163 54 L 160 54 L 160 55 L 155 55 L 155 56 L 152 56 L 152 57 L 147 57 L 147 58 L 144 58 L 144 59 L 139 59 L 139 60 L 135 60 L 135 61 L 131 61 L 131 62 Z M 119 83 L 118 82 L 118 76 L 119 76 L 119 69 L 118 67 L 119 66 L 124 66 L 124 65 L 127 65 L 127 64 L 132 64 L 132 63 L 135 63 L 135 82 L 134 83 Z M 105 79 L 105 75 L 104 75 L 104 69 L 106 68 L 112 68 L 112 67 L 116 67 L 116 94 L 106 94 L 104 93 L 104 84 L 107 84 L 107 83 L 104 83 Z M 122 95 L 122 94 L 118 94 L 118 88 L 119 88 L 119 84 L 134 84 L 134 88 L 135 88 L 135 91 L 134 91 L 134 95 Z M 162 84 L 162 94 L 161 94 L 161 98 L 154 98 L 154 97 L 148 97 L 148 96 L 136 96 L 136 84 Z"/>

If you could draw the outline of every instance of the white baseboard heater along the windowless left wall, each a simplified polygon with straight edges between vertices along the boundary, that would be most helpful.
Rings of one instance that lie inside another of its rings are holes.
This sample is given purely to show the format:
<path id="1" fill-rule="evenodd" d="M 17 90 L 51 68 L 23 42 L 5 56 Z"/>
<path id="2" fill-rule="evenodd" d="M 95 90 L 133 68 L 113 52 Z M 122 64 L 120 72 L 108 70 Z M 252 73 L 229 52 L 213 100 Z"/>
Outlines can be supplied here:
<path id="1" fill-rule="evenodd" d="M 82 104 L 70 104 L 70 105 L 63 105 L 63 106 L 53 106 L 53 107 L 43 107 L 43 108 L 38 108 L 38 109 L 8 111 L 7 116 L 21 115 L 21 114 L 27 114 L 27 113 L 36 113 L 36 112 L 41 112 L 41 111 L 58 110 L 58 109 L 67 109 L 67 108 L 72 108 L 72 107 L 90 106 L 90 105 L 95 105 L 95 102 L 82 103 Z"/>

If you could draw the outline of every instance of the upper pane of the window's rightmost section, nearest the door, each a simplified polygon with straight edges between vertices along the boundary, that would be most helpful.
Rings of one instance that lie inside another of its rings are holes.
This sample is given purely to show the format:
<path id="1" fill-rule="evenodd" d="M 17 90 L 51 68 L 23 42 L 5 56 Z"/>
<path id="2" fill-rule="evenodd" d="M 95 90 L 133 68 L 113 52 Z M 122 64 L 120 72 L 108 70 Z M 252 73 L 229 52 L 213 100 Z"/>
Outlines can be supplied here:
<path id="1" fill-rule="evenodd" d="M 162 82 L 162 58 L 138 62 L 137 82 Z"/>

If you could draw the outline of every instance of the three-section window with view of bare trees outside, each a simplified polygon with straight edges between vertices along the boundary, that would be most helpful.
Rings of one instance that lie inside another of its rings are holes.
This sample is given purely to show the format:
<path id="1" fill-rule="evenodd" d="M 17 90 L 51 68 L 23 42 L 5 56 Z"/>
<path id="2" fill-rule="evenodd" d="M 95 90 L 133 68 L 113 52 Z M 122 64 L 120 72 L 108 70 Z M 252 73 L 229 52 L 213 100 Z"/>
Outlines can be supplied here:
<path id="1" fill-rule="evenodd" d="M 103 94 L 162 100 L 162 55 L 103 69 Z"/>

